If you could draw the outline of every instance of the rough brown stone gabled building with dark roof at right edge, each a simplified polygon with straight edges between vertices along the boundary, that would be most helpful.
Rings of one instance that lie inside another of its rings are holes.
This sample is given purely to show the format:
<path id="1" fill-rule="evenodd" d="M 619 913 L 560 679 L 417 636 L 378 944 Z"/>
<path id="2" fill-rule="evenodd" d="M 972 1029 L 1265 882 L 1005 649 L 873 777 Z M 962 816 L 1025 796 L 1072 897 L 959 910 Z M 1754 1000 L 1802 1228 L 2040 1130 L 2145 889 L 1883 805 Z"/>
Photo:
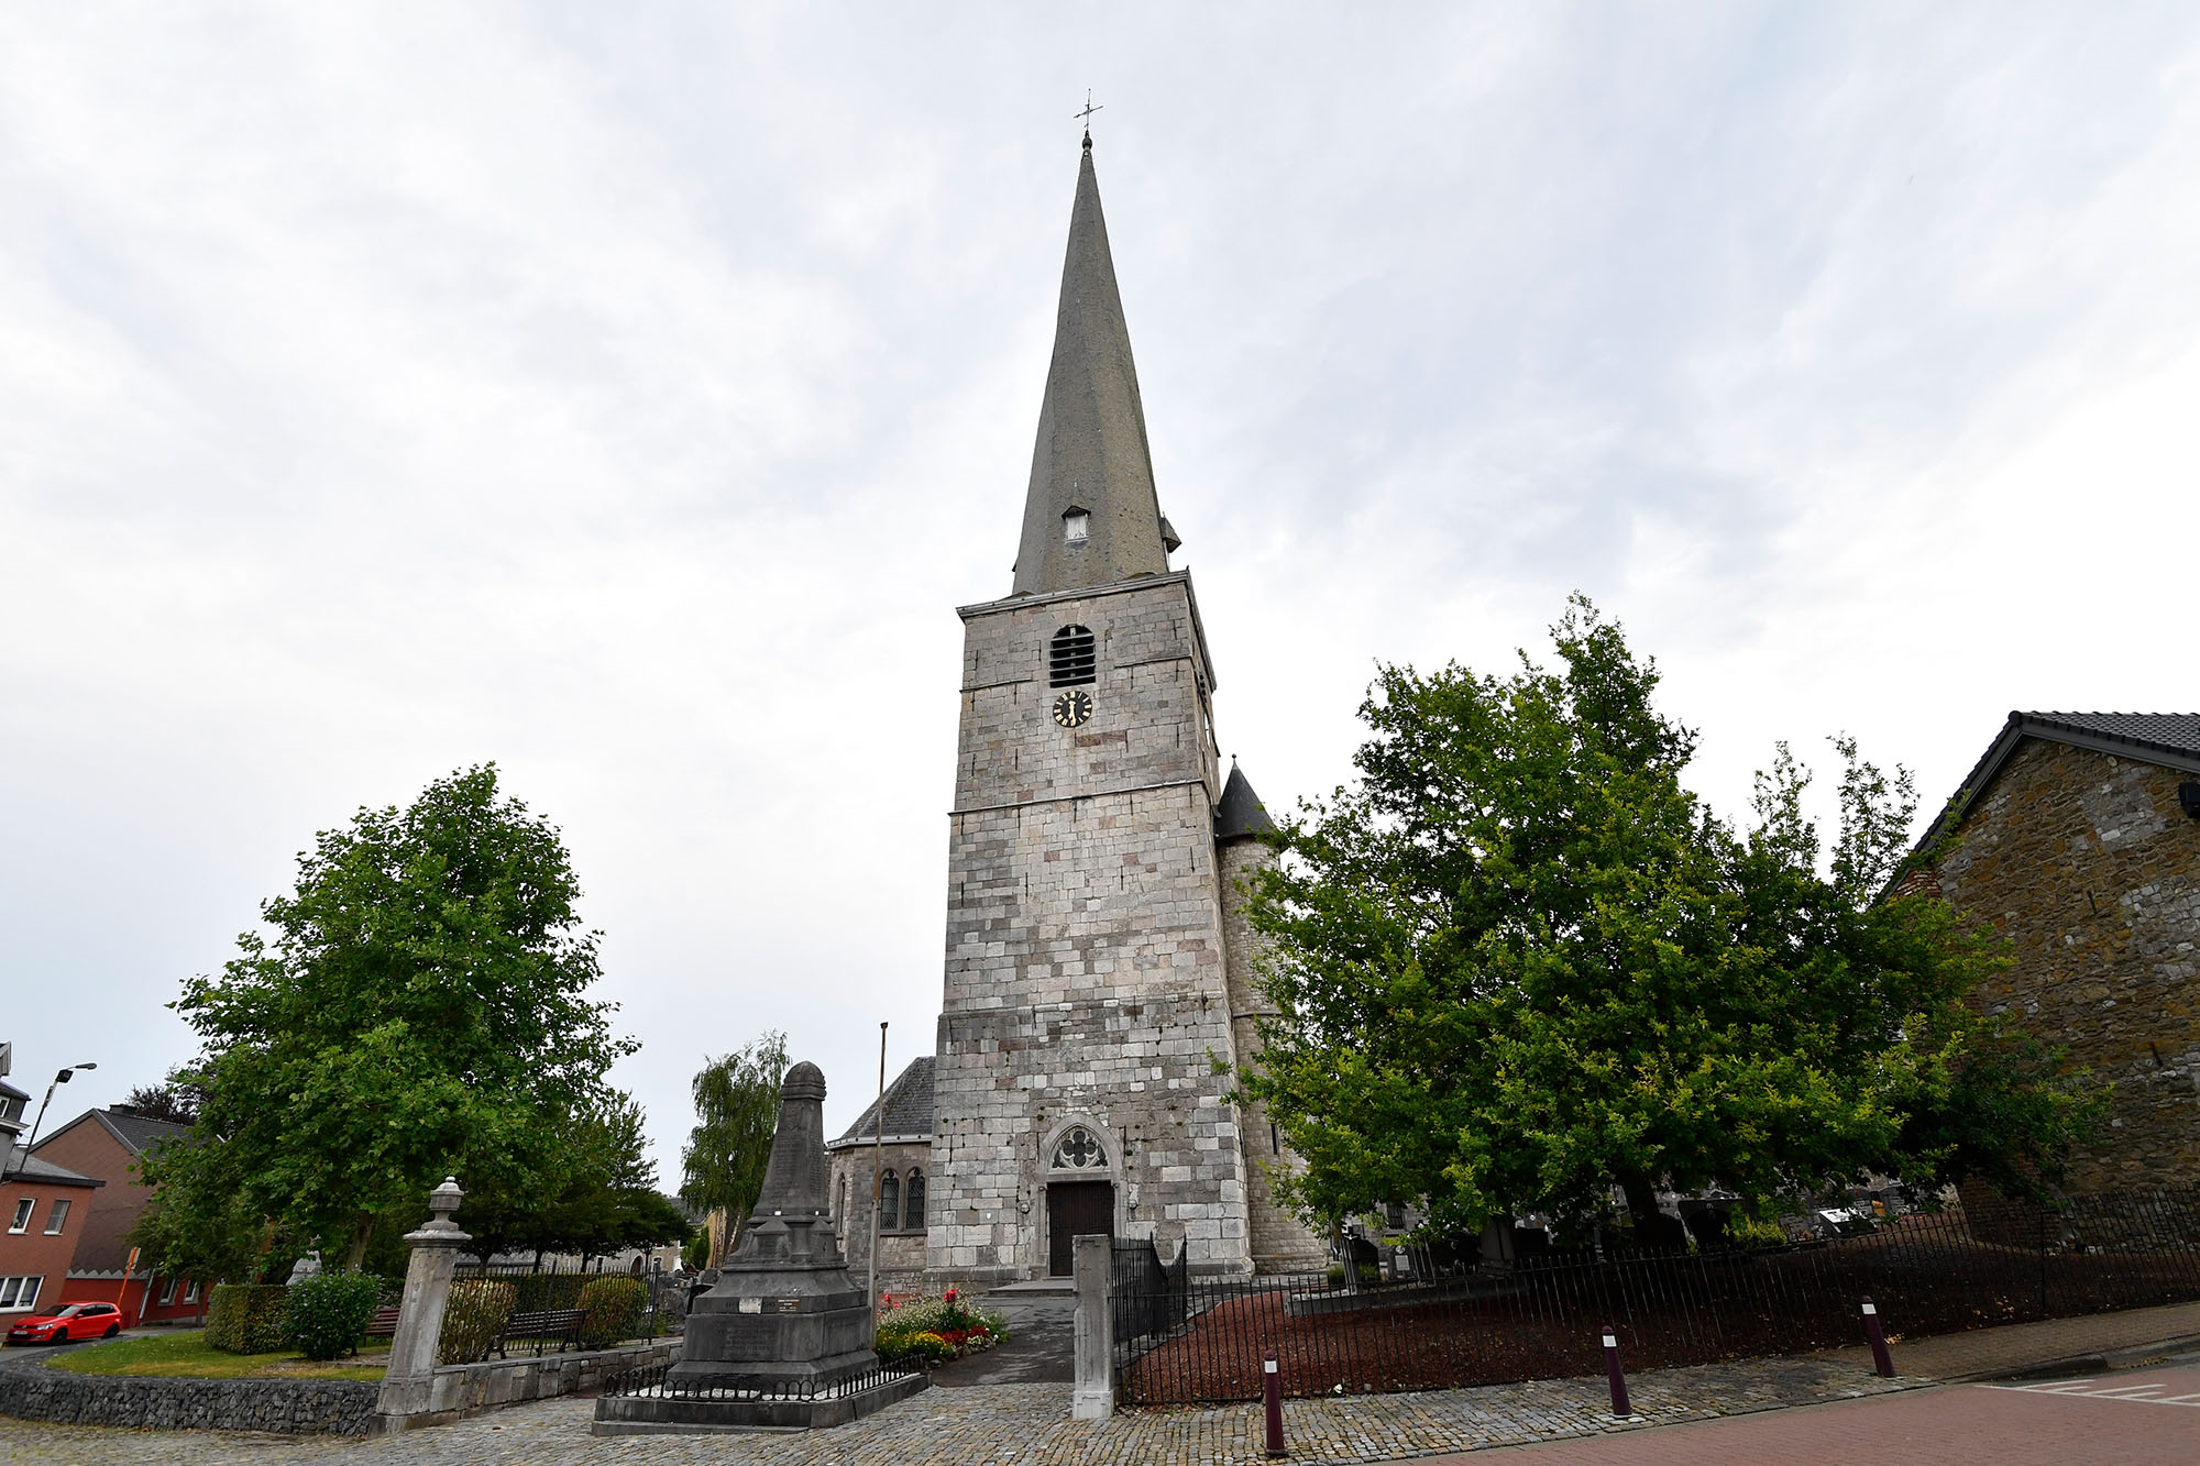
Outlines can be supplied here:
<path id="1" fill-rule="evenodd" d="M 2200 713 L 2011 713 L 1947 812 L 1923 883 L 2015 953 L 1980 1002 L 2114 1083 L 2068 1189 L 2200 1184 Z"/>

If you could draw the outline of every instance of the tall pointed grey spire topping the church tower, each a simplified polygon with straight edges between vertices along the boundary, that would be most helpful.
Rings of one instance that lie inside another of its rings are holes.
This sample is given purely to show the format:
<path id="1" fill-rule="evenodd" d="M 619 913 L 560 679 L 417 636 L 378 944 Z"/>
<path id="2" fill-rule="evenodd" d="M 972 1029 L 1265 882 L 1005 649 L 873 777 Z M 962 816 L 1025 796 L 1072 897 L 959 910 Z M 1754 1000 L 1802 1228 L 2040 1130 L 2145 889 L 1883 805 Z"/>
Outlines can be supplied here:
<path id="1" fill-rule="evenodd" d="M 1054 363 L 1023 502 L 1019 597 L 1168 575 L 1177 539 L 1153 491 L 1146 409 L 1137 401 L 1091 147 L 1087 136 L 1054 315 Z"/>

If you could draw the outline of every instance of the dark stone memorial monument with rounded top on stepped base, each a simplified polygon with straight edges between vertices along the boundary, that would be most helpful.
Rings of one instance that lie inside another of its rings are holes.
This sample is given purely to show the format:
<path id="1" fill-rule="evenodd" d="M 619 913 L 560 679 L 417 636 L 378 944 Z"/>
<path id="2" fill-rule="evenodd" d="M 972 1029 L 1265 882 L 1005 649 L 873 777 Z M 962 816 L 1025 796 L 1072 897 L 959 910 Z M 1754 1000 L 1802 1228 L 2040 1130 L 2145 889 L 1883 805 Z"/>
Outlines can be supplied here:
<path id="1" fill-rule="evenodd" d="M 788 1431 L 869 1415 L 924 1389 L 880 1371 L 871 1303 L 847 1272 L 825 1204 L 825 1074 L 796 1063 L 739 1250 L 689 1308 L 664 1382 L 596 1402 L 596 1435 Z"/>

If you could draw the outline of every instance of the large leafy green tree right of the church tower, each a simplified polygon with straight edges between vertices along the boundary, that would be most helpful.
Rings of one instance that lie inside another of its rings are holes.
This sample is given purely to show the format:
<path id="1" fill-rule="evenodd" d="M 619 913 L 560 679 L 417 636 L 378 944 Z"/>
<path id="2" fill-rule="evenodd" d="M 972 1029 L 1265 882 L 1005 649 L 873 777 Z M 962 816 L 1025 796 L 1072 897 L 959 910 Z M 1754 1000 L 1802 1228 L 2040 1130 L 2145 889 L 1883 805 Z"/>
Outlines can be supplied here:
<path id="1" fill-rule="evenodd" d="M 1965 1002 L 2000 949 L 1879 898 L 1907 775 L 1839 742 L 1826 850 L 1782 748 L 1738 832 L 1681 784 L 1694 733 L 1621 630 L 1575 597 L 1553 638 L 1558 669 L 1507 678 L 1384 667 L 1357 781 L 1278 830 L 1250 902 L 1278 1017 L 1241 1085 L 1305 1158 L 1309 1219 L 2053 1173 L 2094 1105 Z"/>

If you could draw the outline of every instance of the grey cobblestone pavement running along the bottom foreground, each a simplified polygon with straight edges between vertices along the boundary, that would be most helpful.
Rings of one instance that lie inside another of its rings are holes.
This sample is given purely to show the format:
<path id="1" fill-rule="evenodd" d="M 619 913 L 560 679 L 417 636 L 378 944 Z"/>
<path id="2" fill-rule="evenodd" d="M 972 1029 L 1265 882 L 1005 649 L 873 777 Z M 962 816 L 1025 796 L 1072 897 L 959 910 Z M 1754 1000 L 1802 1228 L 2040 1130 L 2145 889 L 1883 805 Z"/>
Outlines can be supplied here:
<path id="1" fill-rule="evenodd" d="M 1630 1380 L 1643 1424 L 1903 1389 L 1830 1356 L 1663 1369 Z M 44 1466 L 1221 1466 L 1261 1462 L 1261 1411 L 1137 1411 L 1069 1420 L 1067 1385 L 926 1389 L 869 1420 L 810 1435 L 594 1437 L 592 1400 L 548 1400 L 394 1440 L 268 1437 L 216 1431 L 108 1431 L 0 1420 L 0 1462 Z M 1591 1435 L 1615 1426 L 1604 1380 L 1536 1380 L 1419 1396 L 1287 1400 L 1296 1462 L 1377 1462 Z"/>

